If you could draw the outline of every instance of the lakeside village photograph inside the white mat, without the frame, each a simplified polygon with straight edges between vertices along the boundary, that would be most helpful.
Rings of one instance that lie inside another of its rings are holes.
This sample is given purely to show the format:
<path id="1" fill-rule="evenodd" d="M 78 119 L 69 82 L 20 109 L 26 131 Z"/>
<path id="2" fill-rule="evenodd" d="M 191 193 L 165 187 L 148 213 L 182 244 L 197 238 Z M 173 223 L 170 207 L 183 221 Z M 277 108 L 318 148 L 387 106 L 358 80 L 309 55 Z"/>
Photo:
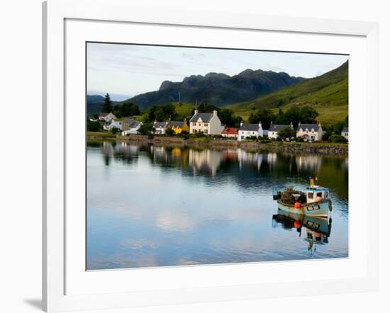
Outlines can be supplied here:
<path id="1" fill-rule="evenodd" d="M 85 57 L 87 271 L 349 258 L 349 55 Z"/>

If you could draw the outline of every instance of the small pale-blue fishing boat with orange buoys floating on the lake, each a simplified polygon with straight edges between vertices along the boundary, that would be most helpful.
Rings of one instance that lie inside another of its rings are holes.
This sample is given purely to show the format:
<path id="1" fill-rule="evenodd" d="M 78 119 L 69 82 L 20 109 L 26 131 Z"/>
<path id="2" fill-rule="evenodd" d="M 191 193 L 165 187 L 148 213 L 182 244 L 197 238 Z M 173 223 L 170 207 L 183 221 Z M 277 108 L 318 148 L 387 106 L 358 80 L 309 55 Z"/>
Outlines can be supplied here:
<path id="1" fill-rule="evenodd" d="M 274 188 L 273 196 L 279 209 L 293 214 L 328 217 L 332 210 L 329 189 L 314 185 L 313 182 L 311 179 L 310 186 L 305 190 L 294 190 L 291 187 L 284 190 Z"/>

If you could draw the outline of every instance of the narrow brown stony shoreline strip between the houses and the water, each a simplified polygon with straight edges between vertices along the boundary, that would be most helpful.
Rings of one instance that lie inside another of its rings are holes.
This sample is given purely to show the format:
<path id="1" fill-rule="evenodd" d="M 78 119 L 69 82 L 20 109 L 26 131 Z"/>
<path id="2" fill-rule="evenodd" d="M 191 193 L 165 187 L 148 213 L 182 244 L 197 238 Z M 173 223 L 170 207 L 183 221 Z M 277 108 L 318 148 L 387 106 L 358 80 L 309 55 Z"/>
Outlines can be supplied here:
<path id="1" fill-rule="evenodd" d="M 348 155 L 348 144 L 335 144 L 328 142 L 255 142 L 237 140 L 211 140 L 209 137 L 190 138 L 188 140 L 183 137 L 167 137 L 146 135 L 129 135 L 123 137 L 121 135 L 88 135 L 87 141 L 102 141 L 111 140 L 116 142 L 128 142 L 134 144 L 155 144 L 172 146 L 172 147 L 199 147 L 199 148 L 241 148 L 253 152 L 282 152 L 294 154 L 324 154 L 324 155 Z"/>

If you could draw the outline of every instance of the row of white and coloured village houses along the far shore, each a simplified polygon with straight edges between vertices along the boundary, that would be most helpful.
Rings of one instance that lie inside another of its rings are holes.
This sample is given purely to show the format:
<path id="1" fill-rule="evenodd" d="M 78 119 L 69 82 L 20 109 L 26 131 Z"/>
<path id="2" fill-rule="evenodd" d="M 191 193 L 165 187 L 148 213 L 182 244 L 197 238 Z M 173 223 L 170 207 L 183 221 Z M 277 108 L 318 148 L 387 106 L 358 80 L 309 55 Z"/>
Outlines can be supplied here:
<path id="1" fill-rule="evenodd" d="M 142 130 L 143 122 L 135 118 L 126 118 L 118 120 L 113 113 L 99 113 L 99 116 L 89 118 L 91 122 L 99 122 L 103 129 L 113 133 L 120 133 L 121 136 L 128 135 L 147 135 Z M 294 125 L 277 125 L 271 122 L 269 129 L 263 129 L 262 122 L 257 124 L 246 124 L 241 121 L 240 127 L 226 127 L 218 118 L 218 111 L 213 113 L 199 113 L 194 110 L 194 115 L 187 123 L 183 121 L 157 121 L 152 123 L 152 129 L 147 131 L 152 135 L 193 135 L 193 136 L 211 136 L 219 137 L 224 140 L 245 141 L 245 140 L 272 140 L 272 141 L 296 141 L 296 142 L 322 142 L 325 131 L 321 123 L 301 124 L 294 128 Z M 348 127 L 343 127 L 340 135 L 342 142 L 348 141 Z"/>

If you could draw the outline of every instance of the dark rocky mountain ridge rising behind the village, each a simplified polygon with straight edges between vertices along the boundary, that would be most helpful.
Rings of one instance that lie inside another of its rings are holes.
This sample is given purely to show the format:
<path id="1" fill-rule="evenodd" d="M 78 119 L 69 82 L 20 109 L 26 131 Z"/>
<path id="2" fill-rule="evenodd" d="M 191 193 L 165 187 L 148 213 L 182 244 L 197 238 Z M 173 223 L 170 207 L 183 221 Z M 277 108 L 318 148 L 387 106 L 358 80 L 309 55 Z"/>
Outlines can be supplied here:
<path id="1" fill-rule="evenodd" d="M 179 101 L 180 93 L 180 100 L 183 102 L 195 103 L 197 101 L 197 103 L 225 106 L 231 103 L 250 101 L 303 80 L 303 77 L 290 76 L 285 72 L 277 73 L 262 69 L 245 69 L 233 76 L 209 72 L 204 76 L 186 76 L 182 81 L 162 81 L 157 91 L 141 93 L 126 101 L 133 102 L 142 109 L 147 109 L 151 106 Z"/>

